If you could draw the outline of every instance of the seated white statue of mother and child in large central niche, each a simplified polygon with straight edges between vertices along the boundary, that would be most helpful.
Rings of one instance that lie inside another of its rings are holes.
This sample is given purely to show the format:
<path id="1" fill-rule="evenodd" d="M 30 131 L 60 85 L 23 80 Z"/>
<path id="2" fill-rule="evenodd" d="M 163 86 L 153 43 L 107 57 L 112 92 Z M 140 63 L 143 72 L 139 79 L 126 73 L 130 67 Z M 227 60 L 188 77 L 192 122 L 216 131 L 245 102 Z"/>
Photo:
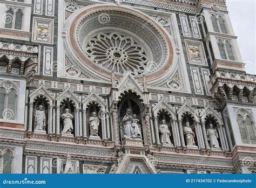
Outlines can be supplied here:
<path id="1" fill-rule="evenodd" d="M 137 116 L 132 116 L 130 108 L 126 110 L 123 117 L 124 138 L 141 138 Z"/>

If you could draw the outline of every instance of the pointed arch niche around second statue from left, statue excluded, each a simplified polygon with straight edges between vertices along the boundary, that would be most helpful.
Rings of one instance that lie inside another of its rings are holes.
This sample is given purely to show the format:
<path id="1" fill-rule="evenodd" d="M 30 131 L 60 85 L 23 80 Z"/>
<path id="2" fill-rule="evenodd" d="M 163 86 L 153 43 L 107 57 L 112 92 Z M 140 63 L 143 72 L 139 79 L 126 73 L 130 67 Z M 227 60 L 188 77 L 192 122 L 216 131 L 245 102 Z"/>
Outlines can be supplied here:
<path id="1" fill-rule="evenodd" d="M 63 130 L 63 121 L 60 120 L 60 116 L 65 112 L 65 109 L 69 109 L 69 113 L 73 115 L 73 131 L 71 133 L 75 137 L 80 136 L 79 126 L 79 111 L 80 102 L 78 96 L 73 94 L 70 89 L 65 89 L 64 92 L 60 93 L 56 98 L 56 134 L 60 135 Z"/>

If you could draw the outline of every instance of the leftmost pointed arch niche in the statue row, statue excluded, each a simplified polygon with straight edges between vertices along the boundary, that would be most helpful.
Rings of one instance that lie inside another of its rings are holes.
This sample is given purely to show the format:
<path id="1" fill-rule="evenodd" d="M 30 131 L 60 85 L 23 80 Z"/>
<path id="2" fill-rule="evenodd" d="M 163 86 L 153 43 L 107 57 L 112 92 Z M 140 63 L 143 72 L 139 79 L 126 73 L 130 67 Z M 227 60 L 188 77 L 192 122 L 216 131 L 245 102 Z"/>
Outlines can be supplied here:
<path id="1" fill-rule="evenodd" d="M 41 86 L 32 91 L 29 95 L 29 131 L 35 131 L 35 112 L 40 105 L 43 106 L 45 112 L 45 131 L 46 134 L 52 134 L 52 108 L 53 108 L 53 96 L 49 91 Z"/>

